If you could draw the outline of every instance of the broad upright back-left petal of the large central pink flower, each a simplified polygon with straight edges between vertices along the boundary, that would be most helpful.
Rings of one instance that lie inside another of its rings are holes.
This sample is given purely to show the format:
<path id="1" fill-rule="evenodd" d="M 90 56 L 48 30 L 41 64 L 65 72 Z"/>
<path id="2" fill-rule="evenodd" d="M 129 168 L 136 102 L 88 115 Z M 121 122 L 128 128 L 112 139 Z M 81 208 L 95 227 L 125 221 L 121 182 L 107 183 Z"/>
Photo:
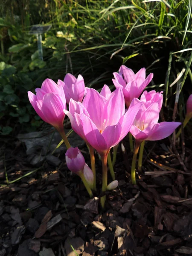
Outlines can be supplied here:
<path id="1" fill-rule="evenodd" d="M 90 89 L 84 96 L 82 104 L 87 109 L 90 119 L 100 131 L 102 129 L 101 117 L 105 106 L 105 99 L 96 90 Z"/>

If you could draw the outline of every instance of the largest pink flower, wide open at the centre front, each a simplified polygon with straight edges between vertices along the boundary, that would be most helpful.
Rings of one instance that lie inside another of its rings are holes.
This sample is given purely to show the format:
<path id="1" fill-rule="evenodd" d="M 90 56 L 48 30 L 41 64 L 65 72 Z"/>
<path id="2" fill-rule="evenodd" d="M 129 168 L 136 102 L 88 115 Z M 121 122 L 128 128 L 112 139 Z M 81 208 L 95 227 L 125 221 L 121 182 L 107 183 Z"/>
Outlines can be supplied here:
<path id="1" fill-rule="evenodd" d="M 71 99 L 70 112 L 64 112 L 69 116 L 73 130 L 100 155 L 104 155 L 128 134 L 141 105 L 136 104 L 125 113 L 125 100 L 120 88 L 107 100 L 90 89 L 82 104 Z"/>

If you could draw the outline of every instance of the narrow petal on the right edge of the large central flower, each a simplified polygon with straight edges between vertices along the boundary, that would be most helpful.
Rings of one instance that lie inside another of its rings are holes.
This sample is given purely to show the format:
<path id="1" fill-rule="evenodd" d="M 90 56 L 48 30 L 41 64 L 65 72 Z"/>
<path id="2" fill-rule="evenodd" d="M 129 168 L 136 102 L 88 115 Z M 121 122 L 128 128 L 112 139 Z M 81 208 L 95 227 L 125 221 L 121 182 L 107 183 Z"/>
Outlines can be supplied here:
<path id="1" fill-rule="evenodd" d="M 119 123 L 121 124 L 121 127 L 122 127 L 121 140 L 128 134 L 129 130 L 131 129 L 134 119 L 141 106 L 142 106 L 142 103 L 137 103 L 133 107 L 128 108 L 128 111 L 119 120 Z"/>

